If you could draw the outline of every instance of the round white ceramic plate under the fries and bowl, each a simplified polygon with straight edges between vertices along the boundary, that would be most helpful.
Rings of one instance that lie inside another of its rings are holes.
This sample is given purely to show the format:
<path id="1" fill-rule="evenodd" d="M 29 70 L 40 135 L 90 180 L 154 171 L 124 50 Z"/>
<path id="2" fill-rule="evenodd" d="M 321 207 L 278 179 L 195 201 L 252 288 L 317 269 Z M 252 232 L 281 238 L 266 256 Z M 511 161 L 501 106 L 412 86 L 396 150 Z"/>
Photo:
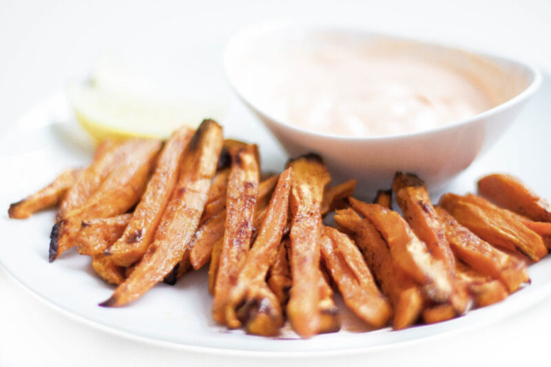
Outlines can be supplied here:
<path id="1" fill-rule="evenodd" d="M 551 77 L 545 75 L 540 91 L 517 123 L 495 148 L 457 177 L 448 190 L 459 193 L 474 190 L 477 177 L 500 171 L 518 175 L 543 197 L 551 199 L 547 161 L 551 157 L 550 99 Z M 248 118 L 250 120 L 250 116 Z M 291 331 L 285 331 L 283 338 L 269 339 L 216 326 L 211 318 L 212 299 L 207 292 L 206 271 L 187 274 L 174 287 L 160 284 L 129 307 L 98 307 L 98 302 L 109 297 L 113 287 L 94 275 L 89 258 L 72 250 L 54 263 L 48 263 L 48 236 L 54 212 L 43 212 L 23 221 L 10 220 L 6 214 L 9 203 L 48 183 L 63 168 L 82 166 L 90 161 L 90 146 L 79 141 L 78 135 L 68 136 L 73 133 L 71 124 L 56 122 L 67 120 L 70 114 L 65 99 L 58 94 L 32 109 L 0 138 L 0 172 L 3 173 L 0 260 L 14 278 L 37 296 L 89 325 L 146 342 L 209 353 L 262 353 L 264 356 L 364 353 L 495 322 L 551 293 L 549 256 L 530 267 L 530 286 L 499 304 L 471 311 L 464 317 L 403 331 L 359 332 L 366 327 L 345 312 L 343 331 L 310 340 L 299 340 Z M 257 142 L 261 147 L 262 167 L 280 170 L 287 157 L 260 122 L 244 129 L 237 121 L 242 120 L 222 120 L 227 135 Z M 360 196 L 362 194 L 370 193 L 360 193 Z M 344 309 L 342 302 L 337 303 Z"/>

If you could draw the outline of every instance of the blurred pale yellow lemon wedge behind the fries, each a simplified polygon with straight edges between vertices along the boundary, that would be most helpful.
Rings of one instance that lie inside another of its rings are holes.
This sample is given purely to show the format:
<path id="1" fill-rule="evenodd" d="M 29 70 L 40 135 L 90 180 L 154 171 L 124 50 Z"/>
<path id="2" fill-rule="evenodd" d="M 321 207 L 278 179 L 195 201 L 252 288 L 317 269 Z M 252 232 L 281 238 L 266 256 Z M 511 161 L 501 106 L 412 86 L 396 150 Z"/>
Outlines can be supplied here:
<path id="1" fill-rule="evenodd" d="M 67 97 L 76 120 L 94 140 L 128 137 L 168 137 L 183 125 L 196 127 L 205 118 L 220 119 L 224 104 L 163 98 L 143 93 L 136 79 L 122 72 L 94 71 L 90 82 L 72 82 Z M 121 67 L 117 68 L 121 71 Z M 143 88 L 142 88 L 143 89 Z"/>

